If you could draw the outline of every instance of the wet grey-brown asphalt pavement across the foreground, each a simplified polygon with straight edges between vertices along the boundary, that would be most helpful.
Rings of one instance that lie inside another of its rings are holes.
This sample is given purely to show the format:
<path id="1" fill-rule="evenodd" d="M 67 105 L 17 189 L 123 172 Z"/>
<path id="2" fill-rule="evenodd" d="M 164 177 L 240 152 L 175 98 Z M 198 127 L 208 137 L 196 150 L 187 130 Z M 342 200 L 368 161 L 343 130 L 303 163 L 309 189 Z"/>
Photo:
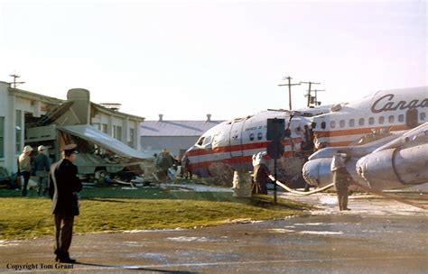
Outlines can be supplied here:
<path id="1" fill-rule="evenodd" d="M 428 211 L 377 196 L 281 194 L 306 215 L 196 229 L 76 235 L 77 264 L 53 261 L 52 237 L 0 242 L 0 271 L 51 273 L 426 273 Z M 418 196 L 416 196 L 418 198 Z M 419 201 L 426 205 L 425 196 Z M 79 218 L 84 216 L 79 216 Z"/>

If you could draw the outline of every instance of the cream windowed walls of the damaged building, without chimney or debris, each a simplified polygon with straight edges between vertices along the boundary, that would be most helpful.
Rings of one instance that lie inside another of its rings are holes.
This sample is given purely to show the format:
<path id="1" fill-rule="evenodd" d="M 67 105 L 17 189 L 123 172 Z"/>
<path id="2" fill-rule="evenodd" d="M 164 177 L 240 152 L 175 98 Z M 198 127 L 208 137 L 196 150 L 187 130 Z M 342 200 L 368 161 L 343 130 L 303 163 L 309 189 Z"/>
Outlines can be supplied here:
<path id="1" fill-rule="evenodd" d="M 0 155 L 1 167 L 7 169 L 9 173 L 16 172 L 17 170 L 16 159 L 21 151 L 23 151 L 23 146 L 25 146 L 26 128 L 24 115 L 27 113 L 32 114 L 33 117 L 41 117 L 47 113 L 50 107 L 61 102 L 63 100 L 48 98 L 47 96 L 22 90 L 11 89 L 9 91 L 9 84 L 0 81 L 0 119 L 4 120 L 4 129 L 3 132 L 0 132 L 0 134 L 3 134 L 3 137 L 0 135 L 0 145 L 3 144 L 3 155 Z M 91 103 L 88 101 L 89 112 L 93 112 L 93 115 L 89 115 L 88 123 L 91 123 L 99 130 L 102 130 L 102 124 L 105 124 L 107 126 L 107 134 L 110 136 L 113 136 L 112 130 L 115 126 L 120 129 L 122 142 L 132 145 L 135 150 L 140 149 L 140 122 L 143 118 L 123 113 L 116 114 L 110 110 L 99 112 L 90 107 L 90 105 Z M 80 107 L 84 107 L 84 105 L 80 105 Z M 69 113 L 64 114 L 64 116 L 68 115 L 69 117 L 61 117 L 60 119 L 64 122 L 62 124 L 76 124 L 79 120 L 85 120 L 85 117 L 74 117 L 76 116 L 76 111 L 70 109 Z M 20 123 L 17 123 L 17 121 Z M 17 124 L 21 126 L 17 128 Z M 134 129 L 134 136 L 131 136 L 130 129 Z M 16 136 L 19 137 L 18 140 L 16 140 Z"/>

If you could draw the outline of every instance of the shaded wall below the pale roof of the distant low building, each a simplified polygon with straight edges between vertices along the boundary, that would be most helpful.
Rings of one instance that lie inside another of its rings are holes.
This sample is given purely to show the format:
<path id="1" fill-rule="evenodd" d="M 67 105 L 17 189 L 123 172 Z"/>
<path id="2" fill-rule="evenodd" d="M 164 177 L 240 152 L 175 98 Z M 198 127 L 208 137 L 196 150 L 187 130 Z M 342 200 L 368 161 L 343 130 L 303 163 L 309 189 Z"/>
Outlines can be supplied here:
<path id="1" fill-rule="evenodd" d="M 168 149 L 171 155 L 180 155 L 194 145 L 200 136 L 141 136 L 141 151 L 149 155 Z"/>

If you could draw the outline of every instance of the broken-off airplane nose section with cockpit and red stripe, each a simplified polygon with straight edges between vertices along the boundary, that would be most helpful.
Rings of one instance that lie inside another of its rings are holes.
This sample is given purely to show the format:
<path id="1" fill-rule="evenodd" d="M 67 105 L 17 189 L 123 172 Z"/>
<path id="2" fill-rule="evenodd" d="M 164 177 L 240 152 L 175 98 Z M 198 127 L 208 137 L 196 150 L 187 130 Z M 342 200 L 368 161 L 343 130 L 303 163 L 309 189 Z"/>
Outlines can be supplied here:
<path id="1" fill-rule="evenodd" d="M 209 167 L 223 163 L 232 169 L 252 170 L 252 156 L 266 151 L 267 119 L 285 120 L 285 128 L 290 126 L 291 138 L 285 138 L 284 156 L 300 151 L 304 138 L 304 125 L 311 121 L 305 117 L 294 117 L 285 111 L 264 111 L 246 118 L 219 123 L 200 136 L 186 155 L 189 157 L 190 169 L 202 177 L 209 176 Z"/>

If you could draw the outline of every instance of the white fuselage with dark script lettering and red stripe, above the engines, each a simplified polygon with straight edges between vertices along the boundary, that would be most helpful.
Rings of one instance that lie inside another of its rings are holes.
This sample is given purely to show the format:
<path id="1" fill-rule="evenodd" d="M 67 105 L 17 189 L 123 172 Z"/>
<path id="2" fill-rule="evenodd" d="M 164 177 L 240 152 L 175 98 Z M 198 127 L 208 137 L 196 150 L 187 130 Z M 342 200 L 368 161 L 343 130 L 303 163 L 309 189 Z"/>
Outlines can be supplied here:
<path id="1" fill-rule="evenodd" d="M 426 122 L 427 111 L 427 87 L 378 91 L 359 102 L 340 105 L 337 111 L 314 116 L 316 146 L 347 146 L 382 128 L 405 131 Z"/>

